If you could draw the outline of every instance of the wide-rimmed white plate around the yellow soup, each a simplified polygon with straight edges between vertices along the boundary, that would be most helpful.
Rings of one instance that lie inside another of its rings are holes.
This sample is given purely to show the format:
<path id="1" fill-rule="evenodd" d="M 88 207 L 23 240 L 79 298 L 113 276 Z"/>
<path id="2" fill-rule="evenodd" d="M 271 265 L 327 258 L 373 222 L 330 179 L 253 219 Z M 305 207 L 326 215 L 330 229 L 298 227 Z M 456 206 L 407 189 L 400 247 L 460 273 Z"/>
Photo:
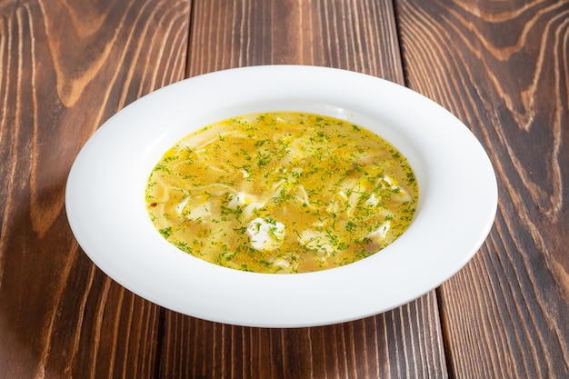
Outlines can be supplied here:
<path id="1" fill-rule="evenodd" d="M 349 120 L 407 157 L 419 204 L 413 224 L 394 244 L 331 270 L 255 274 L 205 263 L 155 230 L 145 184 L 169 147 L 215 121 L 278 110 Z M 442 284 L 484 243 L 497 187 L 474 135 L 424 96 L 369 75 L 274 65 L 196 76 L 126 106 L 77 156 L 65 204 L 85 253 L 135 294 L 215 322 L 297 327 L 379 314 Z"/>

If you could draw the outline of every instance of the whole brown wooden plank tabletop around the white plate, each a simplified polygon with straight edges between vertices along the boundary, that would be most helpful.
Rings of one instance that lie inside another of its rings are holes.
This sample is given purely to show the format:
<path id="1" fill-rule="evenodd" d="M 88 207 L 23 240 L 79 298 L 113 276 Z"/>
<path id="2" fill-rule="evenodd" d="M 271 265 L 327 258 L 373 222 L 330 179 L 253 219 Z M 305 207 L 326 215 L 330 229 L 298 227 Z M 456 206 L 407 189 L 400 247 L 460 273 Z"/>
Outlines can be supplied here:
<path id="1" fill-rule="evenodd" d="M 345 324 L 215 324 L 125 290 L 65 216 L 79 149 L 185 77 L 302 64 L 432 98 L 490 155 L 494 227 L 436 290 Z M 0 377 L 569 377 L 569 3 L 0 2 Z"/>

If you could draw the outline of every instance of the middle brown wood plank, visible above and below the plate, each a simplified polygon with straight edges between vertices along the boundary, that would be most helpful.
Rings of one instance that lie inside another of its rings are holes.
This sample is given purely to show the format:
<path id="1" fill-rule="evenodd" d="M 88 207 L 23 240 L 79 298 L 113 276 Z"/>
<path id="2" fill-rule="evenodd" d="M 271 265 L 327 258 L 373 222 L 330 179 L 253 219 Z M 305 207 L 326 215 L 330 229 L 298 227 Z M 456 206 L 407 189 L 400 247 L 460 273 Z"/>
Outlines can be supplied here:
<path id="1" fill-rule="evenodd" d="M 390 2 L 195 1 L 187 75 L 327 65 L 402 83 Z M 259 329 L 166 312 L 162 377 L 446 377 L 434 292 L 352 323 Z"/>

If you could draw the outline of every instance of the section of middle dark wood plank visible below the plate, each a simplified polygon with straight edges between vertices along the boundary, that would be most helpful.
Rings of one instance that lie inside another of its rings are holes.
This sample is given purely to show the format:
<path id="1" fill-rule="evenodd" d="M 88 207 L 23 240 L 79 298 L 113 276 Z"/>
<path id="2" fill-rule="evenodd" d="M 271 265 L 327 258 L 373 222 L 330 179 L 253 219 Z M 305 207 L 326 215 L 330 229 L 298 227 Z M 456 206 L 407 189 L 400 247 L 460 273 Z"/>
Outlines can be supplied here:
<path id="1" fill-rule="evenodd" d="M 446 377 L 434 292 L 374 317 L 312 328 L 216 324 L 166 312 L 163 378 Z"/>

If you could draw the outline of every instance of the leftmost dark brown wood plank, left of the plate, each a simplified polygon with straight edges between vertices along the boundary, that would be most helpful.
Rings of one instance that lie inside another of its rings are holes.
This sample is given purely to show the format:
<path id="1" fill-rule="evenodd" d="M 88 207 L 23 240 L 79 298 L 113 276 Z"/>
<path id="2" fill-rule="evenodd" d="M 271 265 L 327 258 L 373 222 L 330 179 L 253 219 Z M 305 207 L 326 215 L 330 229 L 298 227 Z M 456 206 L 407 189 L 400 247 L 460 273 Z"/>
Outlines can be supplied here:
<path id="1" fill-rule="evenodd" d="M 0 376 L 155 377 L 161 309 L 103 274 L 65 181 L 106 118 L 184 77 L 188 1 L 0 4 Z"/>

